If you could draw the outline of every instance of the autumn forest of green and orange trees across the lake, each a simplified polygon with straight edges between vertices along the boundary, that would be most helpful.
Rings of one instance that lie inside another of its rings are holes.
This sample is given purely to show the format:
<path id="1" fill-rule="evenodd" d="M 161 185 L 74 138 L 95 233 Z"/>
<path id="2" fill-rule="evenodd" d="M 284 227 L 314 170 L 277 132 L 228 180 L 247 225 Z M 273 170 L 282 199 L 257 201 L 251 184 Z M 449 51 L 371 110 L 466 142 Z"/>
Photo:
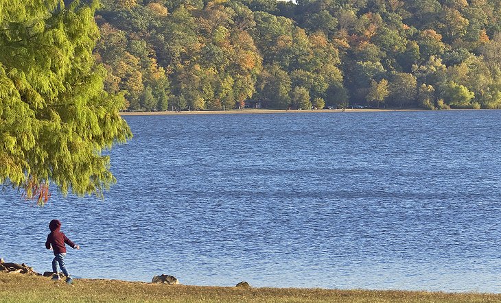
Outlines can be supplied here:
<path id="1" fill-rule="evenodd" d="M 501 106 L 501 0 L 101 2 L 126 110 Z"/>

